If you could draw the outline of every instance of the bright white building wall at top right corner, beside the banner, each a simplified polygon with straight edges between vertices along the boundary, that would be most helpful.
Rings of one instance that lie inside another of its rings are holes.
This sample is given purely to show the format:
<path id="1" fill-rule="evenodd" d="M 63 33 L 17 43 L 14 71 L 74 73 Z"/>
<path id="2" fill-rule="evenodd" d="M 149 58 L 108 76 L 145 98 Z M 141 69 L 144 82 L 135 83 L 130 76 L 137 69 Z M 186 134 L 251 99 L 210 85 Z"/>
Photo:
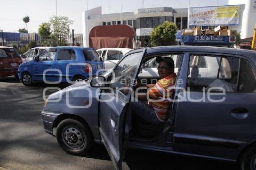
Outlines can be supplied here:
<path id="1" fill-rule="evenodd" d="M 256 7 L 255 0 L 229 0 L 229 5 L 245 4 L 244 10 L 240 9 L 239 25 L 229 26 L 229 29 L 240 30 L 241 38 L 249 38 L 253 36 L 256 24 Z"/>

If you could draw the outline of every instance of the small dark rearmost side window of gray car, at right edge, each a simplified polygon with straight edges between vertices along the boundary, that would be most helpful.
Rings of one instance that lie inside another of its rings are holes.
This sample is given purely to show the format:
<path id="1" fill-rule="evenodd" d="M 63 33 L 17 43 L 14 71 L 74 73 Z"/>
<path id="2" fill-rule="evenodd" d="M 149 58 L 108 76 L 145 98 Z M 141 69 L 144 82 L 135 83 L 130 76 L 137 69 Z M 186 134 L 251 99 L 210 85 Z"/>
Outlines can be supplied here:
<path id="1" fill-rule="evenodd" d="M 245 59 L 240 64 L 239 91 L 256 93 L 256 72 Z"/>

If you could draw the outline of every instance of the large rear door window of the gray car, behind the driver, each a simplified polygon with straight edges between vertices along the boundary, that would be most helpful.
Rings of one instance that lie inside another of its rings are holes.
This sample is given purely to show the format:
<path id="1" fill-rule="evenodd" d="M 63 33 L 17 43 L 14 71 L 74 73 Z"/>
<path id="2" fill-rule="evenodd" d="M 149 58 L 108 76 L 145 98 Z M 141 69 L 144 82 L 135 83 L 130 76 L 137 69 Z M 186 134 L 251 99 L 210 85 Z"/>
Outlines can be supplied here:
<path id="1" fill-rule="evenodd" d="M 206 61 L 206 68 L 200 67 L 200 58 Z M 191 55 L 191 60 L 187 78 L 187 87 L 190 91 L 207 91 L 211 87 L 214 88 L 211 92 L 223 92 L 223 89 L 225 92 L 237 91 L 239 58 Z"/>

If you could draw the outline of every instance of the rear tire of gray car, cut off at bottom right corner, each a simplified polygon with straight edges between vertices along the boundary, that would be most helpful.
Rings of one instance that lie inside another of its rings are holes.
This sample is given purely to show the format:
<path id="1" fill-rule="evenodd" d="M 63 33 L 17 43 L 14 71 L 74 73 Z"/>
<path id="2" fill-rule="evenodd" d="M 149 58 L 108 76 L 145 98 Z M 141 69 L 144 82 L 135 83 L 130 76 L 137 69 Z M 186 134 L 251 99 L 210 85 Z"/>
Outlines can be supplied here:
<path id="1" fill-rule="evenodd" d="M 256 170 L 256 145 L 248 147 L 241 155 L 241 170 Z"/>

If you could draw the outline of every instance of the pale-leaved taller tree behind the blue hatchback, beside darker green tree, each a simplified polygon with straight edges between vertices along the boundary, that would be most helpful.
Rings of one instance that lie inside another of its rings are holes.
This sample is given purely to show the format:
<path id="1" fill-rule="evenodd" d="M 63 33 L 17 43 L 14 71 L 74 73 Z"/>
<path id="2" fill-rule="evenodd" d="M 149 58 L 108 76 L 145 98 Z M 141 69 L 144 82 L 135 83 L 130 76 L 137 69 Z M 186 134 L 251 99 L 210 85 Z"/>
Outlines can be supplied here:
<path id="1" fill-rule="evenodd" d="M 57 42 L 58 45 L 66 44 L 66 36 L 70 33 L 70 24 L 73 23 L 64 16 L 54 16 L 50 19 L 51 23 L 51 36 Z"/>

